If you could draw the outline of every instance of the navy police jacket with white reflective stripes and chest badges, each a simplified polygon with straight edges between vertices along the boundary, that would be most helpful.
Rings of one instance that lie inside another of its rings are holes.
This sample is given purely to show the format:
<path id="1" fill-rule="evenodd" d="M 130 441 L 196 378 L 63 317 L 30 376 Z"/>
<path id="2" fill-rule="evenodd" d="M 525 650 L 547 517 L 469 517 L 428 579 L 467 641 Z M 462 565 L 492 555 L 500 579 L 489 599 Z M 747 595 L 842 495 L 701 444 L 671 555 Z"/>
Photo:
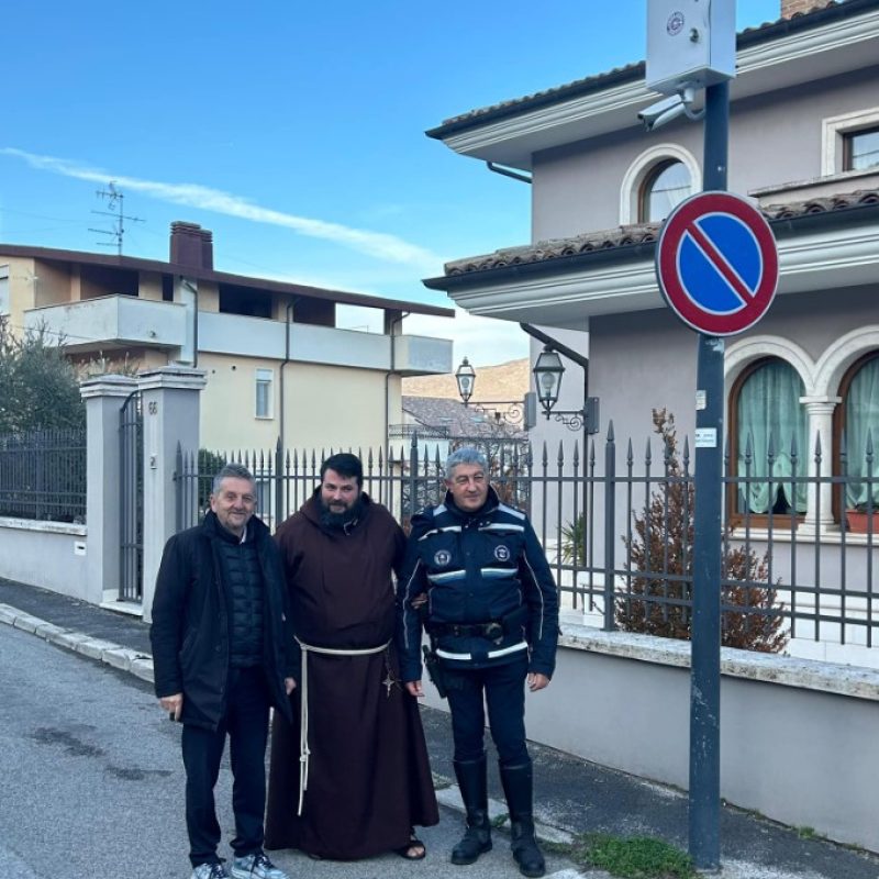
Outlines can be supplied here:
<path id="1" fill-rule="evenodd" d="M 422 677 L 422 623 L 444 666 L 483 668 L 527 650 L 528 671 L 552 677 L 558 594 L 527 516 L 501 503 L 493 488 L 475 513 L 459 510 L 450 493 L 418 513 L 400 577 L 398 623 L 403 681 Z"/>

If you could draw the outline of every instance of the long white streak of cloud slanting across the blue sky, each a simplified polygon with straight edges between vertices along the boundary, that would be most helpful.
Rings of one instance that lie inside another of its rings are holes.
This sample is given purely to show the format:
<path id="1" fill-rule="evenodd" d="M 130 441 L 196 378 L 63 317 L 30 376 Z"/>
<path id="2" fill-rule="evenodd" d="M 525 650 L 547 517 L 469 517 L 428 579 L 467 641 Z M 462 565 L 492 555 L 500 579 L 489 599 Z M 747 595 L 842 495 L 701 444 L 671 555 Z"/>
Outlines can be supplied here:
<path id="1" fill-rule="evenodd" d="M 260 208 L 242 196 L 223 192 L 220 189 L 212 189 L 199 183 L 167 183 L 157 180 L 143 180 L 138 177 L 125 177 L 110 174 L 100 168 L 90 168 L 70 159 L 40 156 L 14 147 L 0 147 L 0 154 L 22 159 L 37 170 L 51 171 L 63 177 L 73 177 L 77 180 L 100 183 L 112 180 L 124 189 L 142 192 L 159 201 L 185 204 L 188 208 L 213 211 L 227 216 L 251 220 L 255 223 L 283 226 L 293 230 L 300 235 L 335 242 L 376 259 L 410 266 L 421 274 L 437 275 L 442 270 L 443 258 L 441 256 L 432 253 L 426 247 L 410 244 L 397 235 L 353 229 L 340 223 L 327 223 L 323 220 L 297 216 L 296 214 L 275 211 L 270 208 Z"/>

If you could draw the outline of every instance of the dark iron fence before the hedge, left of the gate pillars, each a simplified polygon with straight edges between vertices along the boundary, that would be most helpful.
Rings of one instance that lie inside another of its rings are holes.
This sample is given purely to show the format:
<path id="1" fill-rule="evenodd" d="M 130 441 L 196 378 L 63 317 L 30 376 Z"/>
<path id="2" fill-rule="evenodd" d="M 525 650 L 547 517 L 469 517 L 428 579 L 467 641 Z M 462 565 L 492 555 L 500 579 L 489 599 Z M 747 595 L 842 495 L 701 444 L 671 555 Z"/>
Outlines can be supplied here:
<path id="1" fill-rule="evenodd" d="M 0 515 L 86 521 L 85 430 L 0 436 Z"/>

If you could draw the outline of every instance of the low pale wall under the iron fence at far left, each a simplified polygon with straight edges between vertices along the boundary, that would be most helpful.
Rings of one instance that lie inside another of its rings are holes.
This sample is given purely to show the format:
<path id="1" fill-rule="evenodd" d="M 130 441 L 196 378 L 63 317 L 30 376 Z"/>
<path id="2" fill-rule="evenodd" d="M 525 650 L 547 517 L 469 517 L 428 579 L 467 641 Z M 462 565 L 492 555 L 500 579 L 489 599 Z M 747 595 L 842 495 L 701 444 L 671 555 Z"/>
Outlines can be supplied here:
<path id="1" fill-rule="evenodd" d="M 87 600 L 85 525 L 0 516 L 0 577 Z"/>

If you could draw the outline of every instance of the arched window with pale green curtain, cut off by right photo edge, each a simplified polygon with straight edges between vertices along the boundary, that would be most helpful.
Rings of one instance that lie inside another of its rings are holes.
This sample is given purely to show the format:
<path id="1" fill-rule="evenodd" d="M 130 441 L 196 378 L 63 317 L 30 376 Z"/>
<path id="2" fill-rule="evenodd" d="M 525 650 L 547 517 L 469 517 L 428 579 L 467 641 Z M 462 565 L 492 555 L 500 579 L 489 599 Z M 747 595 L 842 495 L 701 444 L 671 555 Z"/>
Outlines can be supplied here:
<path id="1" fill-rule="evenodd" d="M 861 357 L 846 372 L 839 387 L 839 429 L 845 437 L 847 509 L 866 505 L 870 486 L 861 481 L 867 476 L 879 477 L 879 352 Z M 872 460 L 868 460 L 867 438 L 872 441 Z M 874 505 L 879 507 L 879 479 L 872 485 Z"/>

